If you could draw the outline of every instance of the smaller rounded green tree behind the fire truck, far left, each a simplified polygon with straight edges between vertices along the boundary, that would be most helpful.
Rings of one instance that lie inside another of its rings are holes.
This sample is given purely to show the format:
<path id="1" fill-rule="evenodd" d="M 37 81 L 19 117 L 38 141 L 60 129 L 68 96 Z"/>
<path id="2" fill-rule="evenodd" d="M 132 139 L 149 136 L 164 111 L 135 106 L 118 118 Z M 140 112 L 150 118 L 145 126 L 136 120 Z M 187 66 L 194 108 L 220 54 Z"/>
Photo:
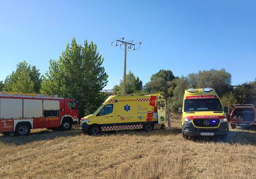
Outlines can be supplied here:
<path id="1" fill-rule="evenodd" d="M 42 77 L 36 66 L 22 61 L 4 81 L 4 90 L 8 92 L 39 93 Z"/>

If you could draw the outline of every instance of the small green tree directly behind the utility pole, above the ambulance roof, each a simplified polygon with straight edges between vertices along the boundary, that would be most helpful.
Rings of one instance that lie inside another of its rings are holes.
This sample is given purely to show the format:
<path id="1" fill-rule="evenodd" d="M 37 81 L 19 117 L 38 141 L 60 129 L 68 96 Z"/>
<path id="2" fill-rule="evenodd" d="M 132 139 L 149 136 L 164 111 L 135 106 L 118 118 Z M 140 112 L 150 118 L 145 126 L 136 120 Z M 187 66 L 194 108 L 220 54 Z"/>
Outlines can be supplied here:
<path id="1" fill-rule="evenodd" d="M 123 81 L 120 80 L 119 85 L 113 87 L 114 94 L 122 94 L 122 87 Z M 134 73 L 129 71 L 128 74 L 126 74 L 126 93 L 134 94 L 135 92 L 142 90 L 142 87 L 142 81 L 139 77 L 135 77 Z"/>

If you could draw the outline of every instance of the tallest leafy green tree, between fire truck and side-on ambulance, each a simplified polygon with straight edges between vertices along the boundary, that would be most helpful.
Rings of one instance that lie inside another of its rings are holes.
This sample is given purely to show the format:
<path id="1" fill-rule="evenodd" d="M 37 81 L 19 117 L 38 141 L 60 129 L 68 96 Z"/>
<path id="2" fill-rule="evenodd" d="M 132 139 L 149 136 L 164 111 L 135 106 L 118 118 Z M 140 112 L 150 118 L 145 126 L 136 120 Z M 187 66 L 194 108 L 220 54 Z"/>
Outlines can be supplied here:
<path id="1" fill-rule="evenodd" d="M 85 40 L 82 46 L 73 38 L 58 61 L 49 61 L 41 92 L 73 98 L 79 103 L 80 116 L 91 114 L 106 99 L 106 94 L 100 92 L 108 82 L 103 61 L 96 44 Z"/>

